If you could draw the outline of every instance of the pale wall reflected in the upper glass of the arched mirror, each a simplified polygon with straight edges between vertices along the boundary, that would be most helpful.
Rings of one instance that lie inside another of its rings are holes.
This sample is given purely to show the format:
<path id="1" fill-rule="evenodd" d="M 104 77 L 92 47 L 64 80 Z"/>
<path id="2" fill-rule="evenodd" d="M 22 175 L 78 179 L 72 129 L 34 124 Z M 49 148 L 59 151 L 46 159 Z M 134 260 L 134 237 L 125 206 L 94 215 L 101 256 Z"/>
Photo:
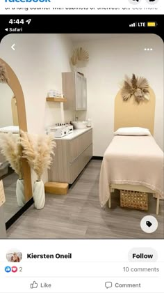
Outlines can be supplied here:
<path id="1" fill-rule="evenodd" d="M 0 83 L 0 128 L 13 125 L 11 99 L 13 91 L 8 84 Z"/>

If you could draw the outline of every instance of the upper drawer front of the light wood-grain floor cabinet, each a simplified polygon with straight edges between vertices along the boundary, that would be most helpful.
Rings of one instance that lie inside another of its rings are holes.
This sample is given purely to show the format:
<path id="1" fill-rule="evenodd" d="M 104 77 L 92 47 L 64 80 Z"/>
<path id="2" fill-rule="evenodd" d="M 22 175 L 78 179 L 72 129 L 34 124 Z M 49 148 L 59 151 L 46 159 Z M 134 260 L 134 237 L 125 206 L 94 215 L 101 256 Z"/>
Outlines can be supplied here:
<path id="1" fill-rule="evenodd" d="M 83 135 L 79 135 L 79 137 L 76 137 L 74 140 L 71 140 L 69 142 L 69 162 L 73 162 L 73 160 L 83 153 L 90 144 L 92 144 L 92 130 L 83 133 Z"/>

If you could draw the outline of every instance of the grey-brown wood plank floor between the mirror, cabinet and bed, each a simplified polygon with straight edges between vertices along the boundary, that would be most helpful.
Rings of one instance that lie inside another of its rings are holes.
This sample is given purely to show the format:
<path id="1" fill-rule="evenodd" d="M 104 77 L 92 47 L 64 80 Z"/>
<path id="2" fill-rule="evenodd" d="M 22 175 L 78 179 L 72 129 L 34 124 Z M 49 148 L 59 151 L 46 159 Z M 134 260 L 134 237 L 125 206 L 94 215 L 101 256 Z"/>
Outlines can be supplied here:
<path id="1" fill-rule="evenodd" d="M 44 209 L 31 206 L 8 230 L 10 239 L 163 239 L 163 204 L 156 216 L 156 200 L 149 196 L 149 211 L 120 208 L 120 194 L 112 197 L 112 208 L 99 205 L 101 160 L 91 160 L 67 195 L 46 195 Z M 158 230 L 140 229 L 143 216 L 158 220 Z"/>

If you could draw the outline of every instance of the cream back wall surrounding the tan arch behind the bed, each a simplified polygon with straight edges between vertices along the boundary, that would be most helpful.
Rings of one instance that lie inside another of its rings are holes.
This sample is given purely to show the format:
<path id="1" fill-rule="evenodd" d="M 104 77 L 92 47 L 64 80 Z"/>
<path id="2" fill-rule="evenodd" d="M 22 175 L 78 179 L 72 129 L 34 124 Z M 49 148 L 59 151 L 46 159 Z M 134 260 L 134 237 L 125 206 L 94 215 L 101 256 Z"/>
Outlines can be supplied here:
<path id="1" fill-rule="evenodd" d="M 101 40 L 74 43 L 82 45 L 90 54 L 85 68 L 88 81 L 88 111 L 79 119 L 91 118 L 94 156 L 103 156 L 112 140 L 114 128 L 114 99 L 124 74 L 144 76 L 156 94 L 154 137 L 163 149 L 163 40 L 156 35 L 124 35 Z M 145 52 L 145 47 L 153 51 Z"/>

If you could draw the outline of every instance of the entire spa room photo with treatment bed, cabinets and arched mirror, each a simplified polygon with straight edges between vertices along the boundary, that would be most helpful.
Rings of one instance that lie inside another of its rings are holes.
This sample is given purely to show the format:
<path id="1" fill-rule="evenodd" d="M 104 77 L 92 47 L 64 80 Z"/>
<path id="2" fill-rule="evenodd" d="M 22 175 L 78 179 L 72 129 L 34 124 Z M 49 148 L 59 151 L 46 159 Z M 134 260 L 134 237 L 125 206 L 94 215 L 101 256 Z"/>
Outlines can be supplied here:
<path id="1" fill-rule="evenodd" d="M 1 239 L 163 239 L 159 36 L 8 34 L 0 93 Z"/>

